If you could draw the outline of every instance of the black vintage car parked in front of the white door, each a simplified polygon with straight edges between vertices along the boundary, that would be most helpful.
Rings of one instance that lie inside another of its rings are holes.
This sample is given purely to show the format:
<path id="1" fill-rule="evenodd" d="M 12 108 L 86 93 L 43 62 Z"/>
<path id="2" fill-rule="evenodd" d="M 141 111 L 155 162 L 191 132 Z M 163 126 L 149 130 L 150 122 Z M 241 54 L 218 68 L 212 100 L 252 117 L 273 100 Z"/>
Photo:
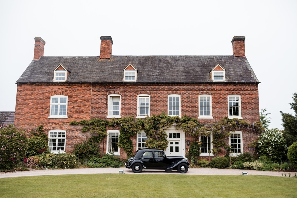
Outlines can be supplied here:
<path id="1" fill-rule="evenodd" d="M 163 150 L 139 149 L 134 157 L 130 157 L 126 168 L 131 168 L 134 173 L 140 173 L 143 169 L 158 169 L 170 172 L 173 169 L 180 173 L 186 173 L 189 169 L 189 162 L 184 156 L 166 156 Z"/>

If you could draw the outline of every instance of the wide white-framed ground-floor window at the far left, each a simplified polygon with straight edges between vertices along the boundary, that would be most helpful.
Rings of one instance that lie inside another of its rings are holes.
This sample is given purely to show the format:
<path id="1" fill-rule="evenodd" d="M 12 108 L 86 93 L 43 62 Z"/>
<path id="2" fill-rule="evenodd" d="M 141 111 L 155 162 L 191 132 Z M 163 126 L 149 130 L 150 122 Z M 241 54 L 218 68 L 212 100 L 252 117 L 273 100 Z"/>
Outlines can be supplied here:
<path id="1" fill-rule="evenodd" d="M 56 140 L 56 142 L 52 142 L 52 140 Z M 54 146 L 56 150 L 52 150 L 53 144 L 56 144 Z M 64 144 L 64 150 L 58 150 L 59 147 L 63 147 L 61 144 Z M 55 154 L 64 153 L 66 148 L 66 131 L 60 130 L 60 129 L 54 129 L 54 130 L 48 131 L 48 147 L 52 153 L 55 153 Z"/>

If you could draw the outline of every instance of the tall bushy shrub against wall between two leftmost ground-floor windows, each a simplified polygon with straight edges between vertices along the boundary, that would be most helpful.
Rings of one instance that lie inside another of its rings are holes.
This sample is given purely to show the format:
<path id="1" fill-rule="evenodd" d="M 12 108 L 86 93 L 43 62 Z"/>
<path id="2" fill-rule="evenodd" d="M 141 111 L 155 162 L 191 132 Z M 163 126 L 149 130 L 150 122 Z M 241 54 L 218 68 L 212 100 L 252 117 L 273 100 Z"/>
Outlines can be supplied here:
<path id="1" fill-rule="evenodd" d="M 73 154 L 78 156 L 82 161 L 90 159 L 91 157 L 96 157 L 98 153 L 99 146 L 93 138 L 89 138 L 88 140 L 83 140 L 82 143 L 75 144 L 73 149 Z"/>

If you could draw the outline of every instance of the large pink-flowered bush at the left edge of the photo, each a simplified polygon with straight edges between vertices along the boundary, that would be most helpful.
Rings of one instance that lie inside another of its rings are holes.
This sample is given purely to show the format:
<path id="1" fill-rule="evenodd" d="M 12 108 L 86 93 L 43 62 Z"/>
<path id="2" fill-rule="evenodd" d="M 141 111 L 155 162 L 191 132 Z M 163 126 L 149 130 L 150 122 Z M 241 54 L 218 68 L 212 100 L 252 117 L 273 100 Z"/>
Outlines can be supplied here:
<path id="1" fill-rule="evenodd" d="M 23 161 L 27 141 L 24 130 L 13 125 L 0 126 L 0 169 L 12 169 Z"/>

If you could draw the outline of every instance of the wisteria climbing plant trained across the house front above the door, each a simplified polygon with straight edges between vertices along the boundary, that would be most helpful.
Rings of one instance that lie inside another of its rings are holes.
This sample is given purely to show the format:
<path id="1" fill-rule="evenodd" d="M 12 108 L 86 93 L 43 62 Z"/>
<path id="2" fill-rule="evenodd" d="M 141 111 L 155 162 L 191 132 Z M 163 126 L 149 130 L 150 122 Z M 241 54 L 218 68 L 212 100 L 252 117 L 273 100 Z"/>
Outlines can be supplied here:
<path id="1" fill-rule="evenodd" d="M 160 115 L 152 115 L 144 119 L 135 119 L 133 116 L 120 119 L 92 119 L 90 121 L 82 120 L 80 122 L 72 121 L 70 125 L 82 125 L 82 132 L 93 132 L 98 134 L 98 141 L 101 141 L 107 135 L 106 127 L 119 127 L 120 135 L 118 137 L 118 146 L 123 148 L 127 156 L 133 155 L 133 142 L 131 136 L 136 135 L 141 130 L 144 130 L 148 139 L 146 146 L 149 148 L 158 148 L 165 150 L 168 147 L 167 133 L 165 129 L 175 124 L 176 129 L 182 129 L 195 140 L 199 140 L 200 135 L 208 135 L 213 133 L 213 153 L 217 154 L 226 147 L 226 139 L 230 132 L 240 129 L 250 129 L 255 133 L 264 131 L 260 122 L 249 124 L 244 120 L 223 118 L 220 122 L 212 124 L 200 124 L 197 119 L 190 118 L 186 115 L 169 116 L 162 112 Z M 199 156 L 199 154 L 198 154 Z"/>

